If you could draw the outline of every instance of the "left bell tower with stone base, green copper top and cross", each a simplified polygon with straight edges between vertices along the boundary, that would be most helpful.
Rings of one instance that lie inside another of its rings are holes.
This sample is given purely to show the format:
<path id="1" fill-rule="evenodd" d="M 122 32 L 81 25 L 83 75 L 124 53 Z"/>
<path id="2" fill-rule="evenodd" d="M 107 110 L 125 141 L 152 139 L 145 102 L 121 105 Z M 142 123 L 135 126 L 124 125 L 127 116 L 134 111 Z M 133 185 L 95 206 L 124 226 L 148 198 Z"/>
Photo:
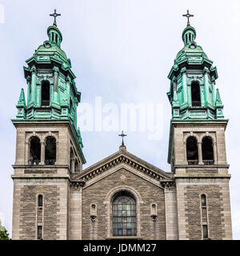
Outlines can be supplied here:
<path id="1" fill-rule="evenodd" d="M 77 128 L 81 101 L 70 58 L 54 24 L 48 40 L 26 60 L 18 114 L 14 163 L 13 239 L 68 239 L 70 176 L 86 162 Z"/>

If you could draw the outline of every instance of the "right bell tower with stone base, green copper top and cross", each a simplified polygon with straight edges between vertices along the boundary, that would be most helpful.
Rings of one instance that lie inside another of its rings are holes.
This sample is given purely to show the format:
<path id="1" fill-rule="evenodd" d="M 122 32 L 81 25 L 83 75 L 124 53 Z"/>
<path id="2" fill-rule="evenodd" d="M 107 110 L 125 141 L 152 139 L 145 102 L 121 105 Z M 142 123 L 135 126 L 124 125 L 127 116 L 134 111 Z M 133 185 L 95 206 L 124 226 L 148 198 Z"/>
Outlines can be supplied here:
<path id="1" fill-rule="evenodd" d="M 170 70 L 168 162 L 176 182 L 179 239 L 231 239 L 225 130 L 217 68 L 196 42 L 188 18 L 184 46 Z"/>

